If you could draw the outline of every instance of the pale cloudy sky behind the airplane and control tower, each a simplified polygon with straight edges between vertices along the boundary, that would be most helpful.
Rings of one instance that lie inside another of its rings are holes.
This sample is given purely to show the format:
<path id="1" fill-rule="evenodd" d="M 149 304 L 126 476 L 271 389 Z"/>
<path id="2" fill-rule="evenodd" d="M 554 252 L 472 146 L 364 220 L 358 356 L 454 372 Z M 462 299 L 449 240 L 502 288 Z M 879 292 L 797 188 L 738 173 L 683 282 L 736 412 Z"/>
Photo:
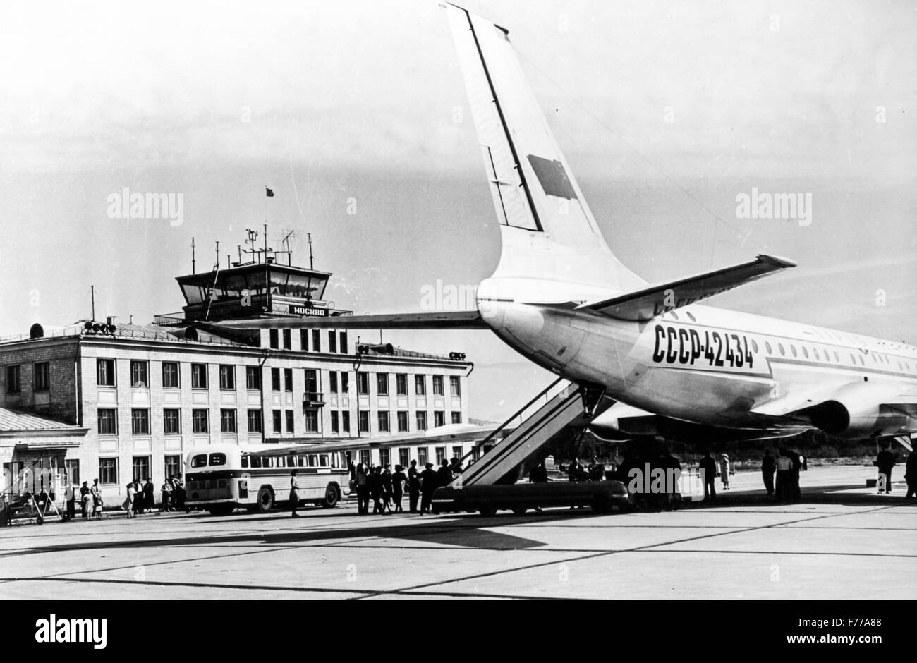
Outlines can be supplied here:
<path id="1" fill-rule="evenodd" d="M 905 2 L 469 2 L 510 30 L 606 239 L 649 282 L 799 267 L 710 304 L 917 342 L 917 7 Z M 332 271 L 358 313 L 487 278 L 500 238 L 436 0 L 0 5 L 0 336 L 149 322 L 174 277 L 246 227 Z M 264 187 L 275 192 L 266 198 Z M 182 223 L 108 196 L 182 194 Z M 810 193 L 812 222 L 736 196 Z M 463 303 L 462 303 L 463 304 Z M 374 335 L 373 335 L 374 336 Z M 389 332 L 465 351 L 471 415 L 550 376 L 488 332 Z"/>

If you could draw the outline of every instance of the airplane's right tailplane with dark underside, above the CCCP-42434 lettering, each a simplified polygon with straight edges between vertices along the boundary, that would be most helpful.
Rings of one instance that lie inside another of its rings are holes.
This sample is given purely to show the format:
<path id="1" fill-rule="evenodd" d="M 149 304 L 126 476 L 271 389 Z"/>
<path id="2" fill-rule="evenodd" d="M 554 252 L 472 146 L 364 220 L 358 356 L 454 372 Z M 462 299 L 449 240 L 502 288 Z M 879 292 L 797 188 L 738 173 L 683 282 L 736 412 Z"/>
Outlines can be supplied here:
<path id="1" fill-rule="evenodd" d="M 796 263 L 785 258 L 761 254 L 755 260 L 722 270 L 708 271 L 687 279 L 662 283 L 640 290 L 596 302 L 587 302 L 578 309 L 591 309 L 596 313 L 620 320 L 646 321 L 657 315 L 693 304 L 702 299 L 724 293 L 740 285 L 757 281 L 777 271 L 795 267 Z"/>

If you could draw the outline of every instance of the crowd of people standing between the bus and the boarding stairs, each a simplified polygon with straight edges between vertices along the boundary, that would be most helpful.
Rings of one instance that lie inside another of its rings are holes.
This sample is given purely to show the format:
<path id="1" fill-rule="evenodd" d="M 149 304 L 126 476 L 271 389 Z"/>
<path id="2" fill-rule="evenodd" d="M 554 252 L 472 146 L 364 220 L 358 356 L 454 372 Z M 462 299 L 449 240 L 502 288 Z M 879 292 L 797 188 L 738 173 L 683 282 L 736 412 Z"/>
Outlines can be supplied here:
<path id="1" fill-rule="evenodd" d="M 403 513 L 402 500 L 407 492 L 409 513 L 417 513 L 419 501 L 420 514 L 426 514 L 433 501 L 433 492 L 440 486 L 447 486 L 461 471 L 461 461 L 457 458 L 451 462 L 443 459 L 438 470 L 433 463 L 425 463 L 423 471 L 417 470 L 416 460 L 411 461 L 407 470 L 402 465 L 395 465 L 393 472 L 388 464 L 351 463 L 350 483 L 357 492 L 357 513 L 370 513 L 370 498 L 373 514 Z"/>

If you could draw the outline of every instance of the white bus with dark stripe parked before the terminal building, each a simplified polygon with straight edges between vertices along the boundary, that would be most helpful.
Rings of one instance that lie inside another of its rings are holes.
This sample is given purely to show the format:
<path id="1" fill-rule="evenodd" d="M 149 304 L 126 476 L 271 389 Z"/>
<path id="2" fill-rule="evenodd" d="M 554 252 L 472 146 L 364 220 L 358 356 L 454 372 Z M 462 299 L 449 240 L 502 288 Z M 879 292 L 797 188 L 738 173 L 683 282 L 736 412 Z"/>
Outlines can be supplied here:
<path id="1" fill-rule="evenodd" d="M 185 461 L 185 505 L 213 515 L 239 507 L 262 514 L 290 500 L 290 472 L 299 502 L 333 507 L 349 493 L 344 453 L 304 445 L 206 445 Z"/>

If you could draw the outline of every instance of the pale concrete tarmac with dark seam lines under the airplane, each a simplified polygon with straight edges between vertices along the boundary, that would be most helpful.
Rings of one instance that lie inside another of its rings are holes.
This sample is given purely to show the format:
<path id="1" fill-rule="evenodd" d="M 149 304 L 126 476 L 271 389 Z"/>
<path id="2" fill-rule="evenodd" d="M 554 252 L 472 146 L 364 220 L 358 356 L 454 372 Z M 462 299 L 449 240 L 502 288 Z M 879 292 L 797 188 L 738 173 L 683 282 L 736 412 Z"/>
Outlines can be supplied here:
<path id="1" fill-rule="evenodd" d="M 903 481 L 865 488 L 875 476 L 810 468 L 802 502 L 778 504 L 739 472 L 715 501 L 661 513 L 358 515 L 347 501 L 298 519 L 49 520 L 0 530 L 0 598 L 912 599 L 917 499 Z"/>

